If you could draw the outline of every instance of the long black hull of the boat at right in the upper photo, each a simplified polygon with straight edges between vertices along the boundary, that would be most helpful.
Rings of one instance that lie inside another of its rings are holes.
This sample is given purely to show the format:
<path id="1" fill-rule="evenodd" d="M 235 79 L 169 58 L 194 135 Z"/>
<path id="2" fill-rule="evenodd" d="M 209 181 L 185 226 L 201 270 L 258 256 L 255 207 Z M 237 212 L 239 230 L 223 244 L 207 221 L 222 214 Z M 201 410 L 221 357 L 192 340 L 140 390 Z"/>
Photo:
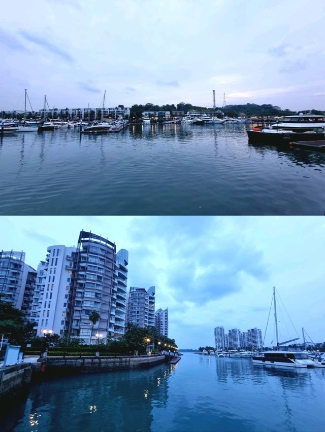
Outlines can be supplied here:
<path id="1" fill-rule="evenodd" d="M 292 141 L 319 141 L 325 138 L 324 133 L 290 133 L 290 132 L 278 132 L 268 133 L 256 130 L 248 130 L 248 142 L 254 144 L 270 144 L 270 145 L 281 145 L 288 144 Z"/>

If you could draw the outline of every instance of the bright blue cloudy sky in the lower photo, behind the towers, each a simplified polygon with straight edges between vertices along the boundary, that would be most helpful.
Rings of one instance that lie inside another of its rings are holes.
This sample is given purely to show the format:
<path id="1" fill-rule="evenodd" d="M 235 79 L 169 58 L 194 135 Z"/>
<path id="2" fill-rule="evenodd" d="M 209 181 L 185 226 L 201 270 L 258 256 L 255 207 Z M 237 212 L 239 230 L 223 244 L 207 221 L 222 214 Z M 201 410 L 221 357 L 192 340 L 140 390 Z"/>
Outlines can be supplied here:
<path id="1" fill-rule="evenodd" d="M 23 250 L 36 268 L 47 247 L 76 246 L 82 229 L 128 250 L 128 289 L 156 287 L 156 309 L 168 307 L 180 348 L 214 346 L 217 326 L 257 327 L 264 336 L 273 286 L 280 341 L 296 331 L 302 340 L 302 327 L 325 341 L 324 218 L 3 216 L 0 248 Z M 265 343 L 272 341 L 273 311 Z"/>

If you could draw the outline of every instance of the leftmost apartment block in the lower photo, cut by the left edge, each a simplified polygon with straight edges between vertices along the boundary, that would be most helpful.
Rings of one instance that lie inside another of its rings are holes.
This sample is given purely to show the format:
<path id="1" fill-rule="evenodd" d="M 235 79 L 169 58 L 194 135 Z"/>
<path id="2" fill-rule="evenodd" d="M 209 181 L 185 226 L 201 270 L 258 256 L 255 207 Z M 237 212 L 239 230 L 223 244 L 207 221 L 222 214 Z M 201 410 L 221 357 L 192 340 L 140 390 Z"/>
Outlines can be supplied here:
<path id="1" fill-rule="evenodd" d="M 23 251 L 1 251 L 0 293 L 4 294 L 3 301 L 23 312 L 25 322 L 32 308 L 36 275 L 37 271 L 25 263 Z"/>

